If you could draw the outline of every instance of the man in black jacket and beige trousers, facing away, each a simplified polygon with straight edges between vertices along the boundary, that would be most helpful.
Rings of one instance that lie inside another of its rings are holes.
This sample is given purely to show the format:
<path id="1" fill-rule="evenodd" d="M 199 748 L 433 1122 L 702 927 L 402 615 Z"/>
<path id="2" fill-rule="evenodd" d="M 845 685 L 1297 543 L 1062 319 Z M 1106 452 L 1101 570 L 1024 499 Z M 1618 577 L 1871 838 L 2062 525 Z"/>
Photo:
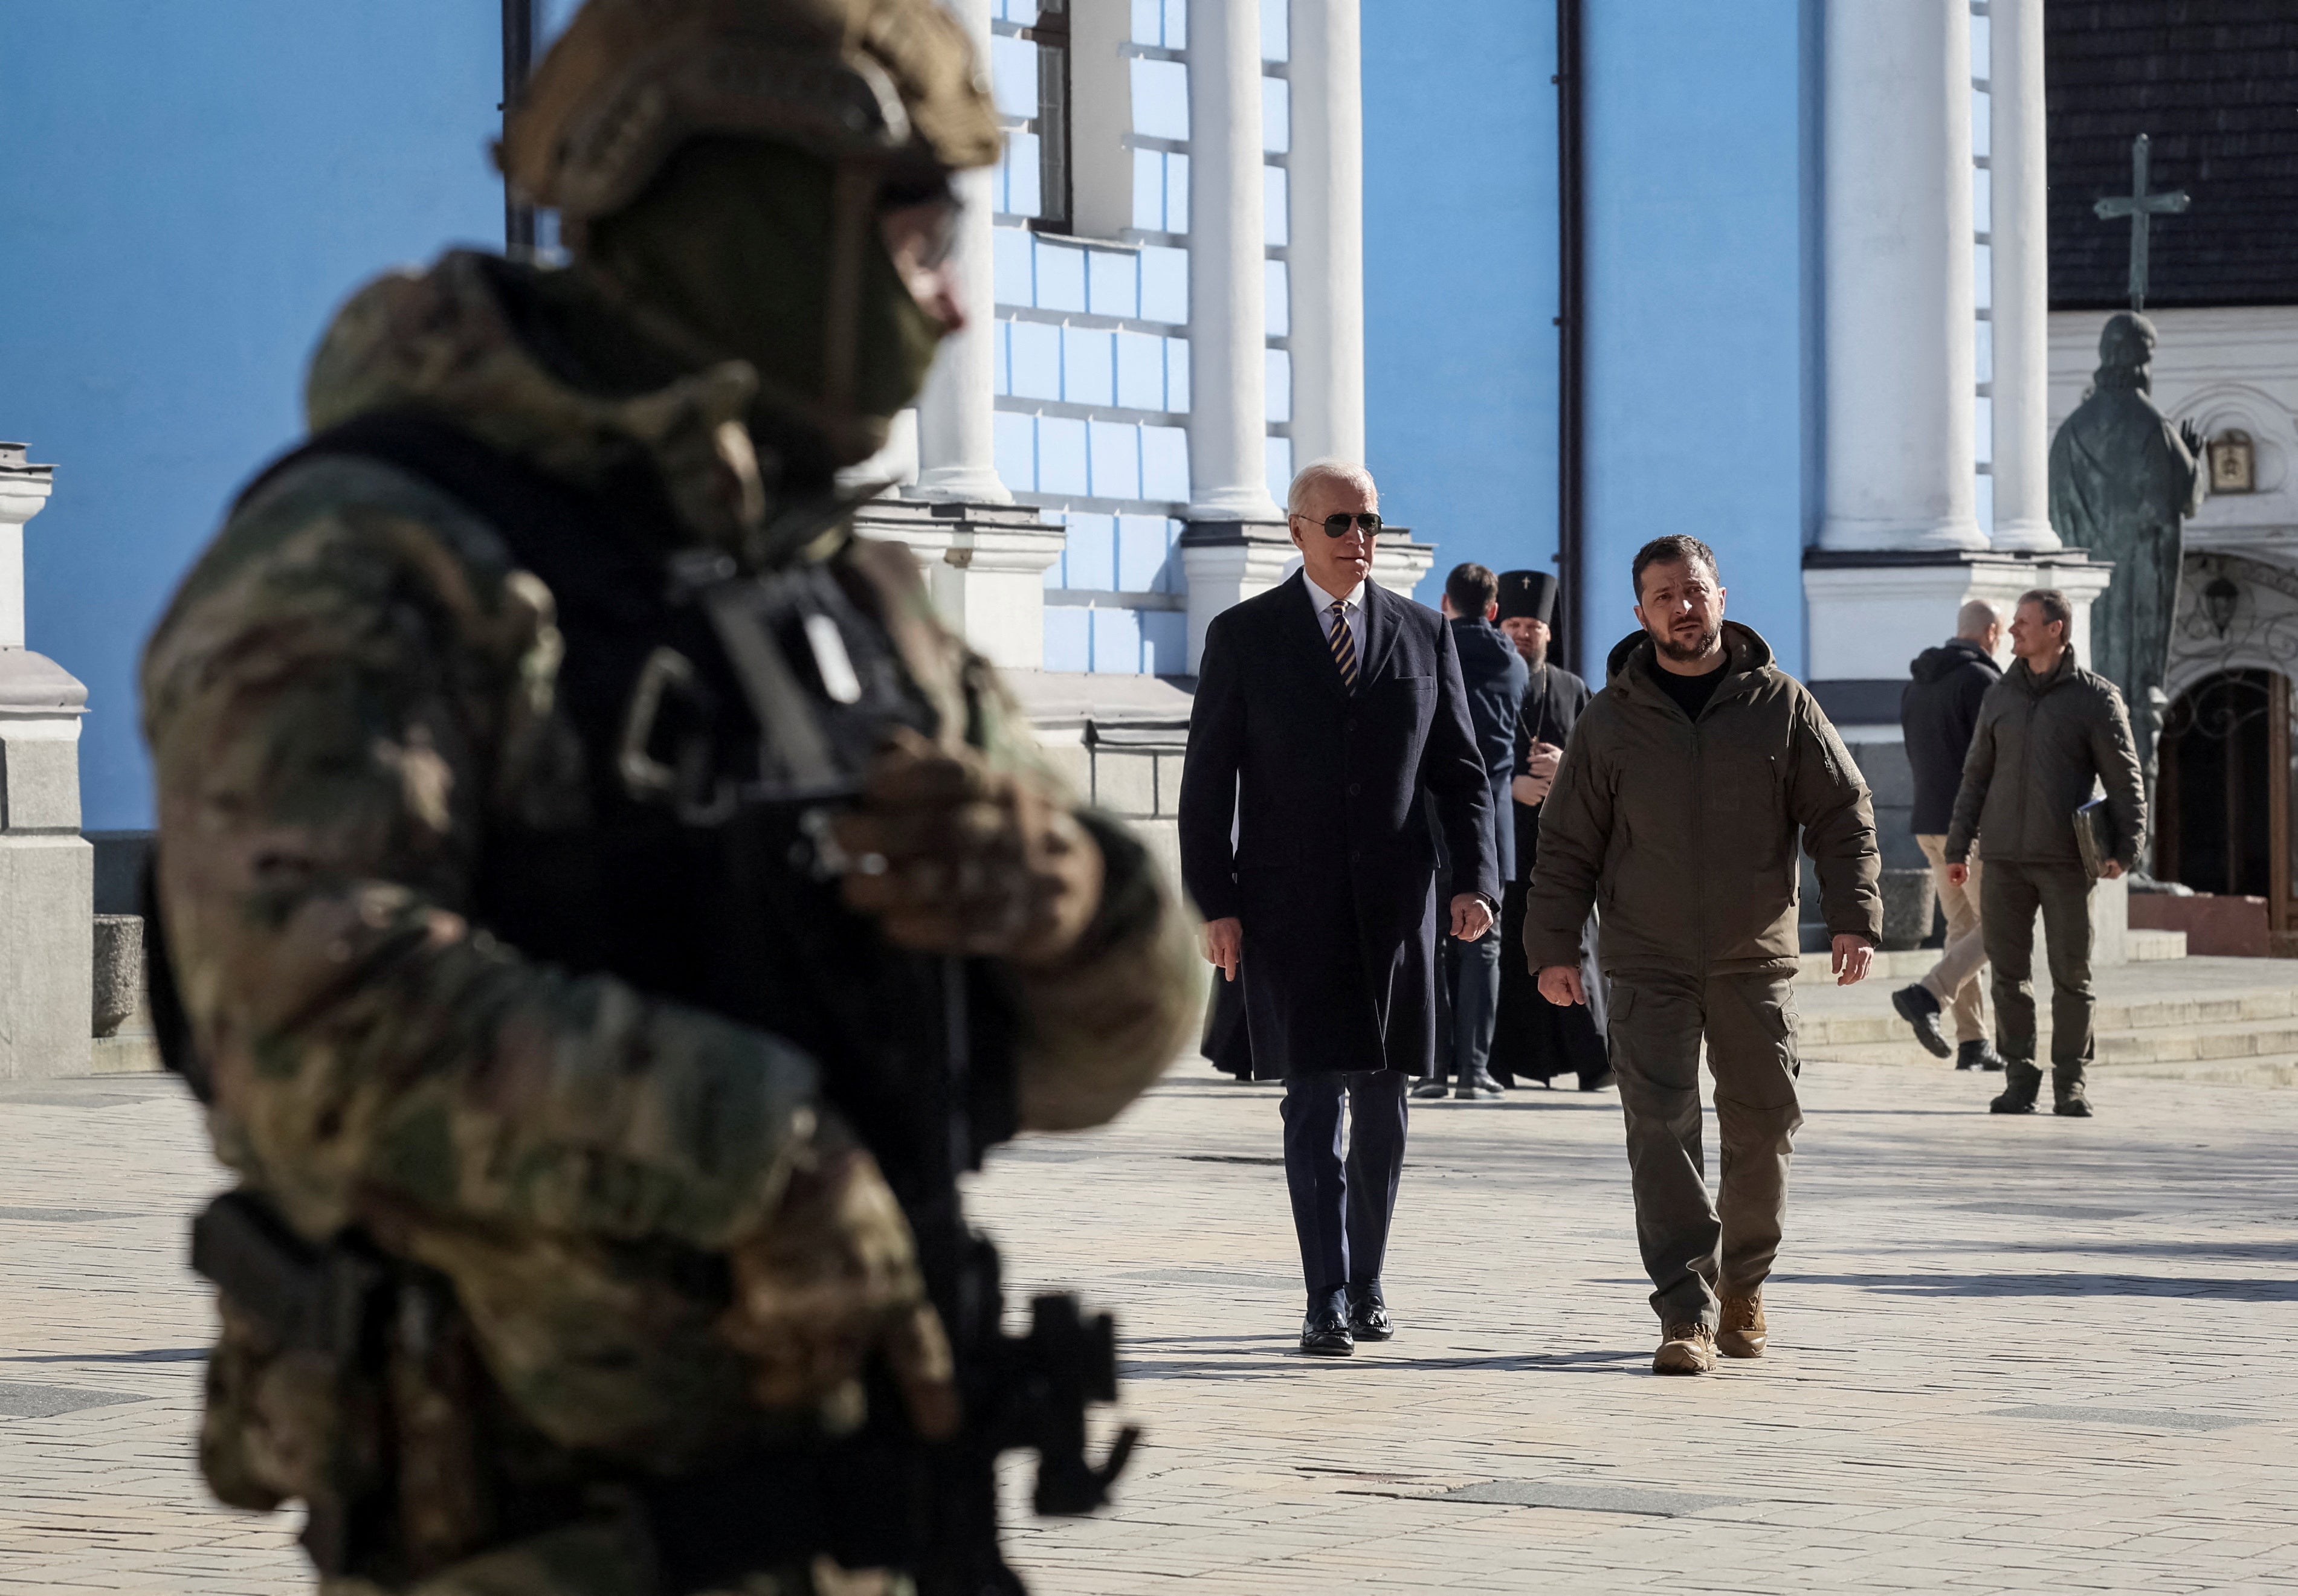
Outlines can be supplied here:
<path id="1" fill-rule="evenodd" d="M 1979 728 L 1979 700 L 2002 680 L 1995 650 L 2002 648 L 2004 622 L 1985 599 L 1972 599 L 1956 615 L 1956 636 L 1942 648 L 1926 648 L 1910 666 L 1914 680 L 1898 698 L 1898 728 L 1914 772 L 1914 845 L 1930 861 L 1930 880 L 1946 912 L 1946 948 L 1912 987 L 1891 994 L 1891 1008 L 1914 1026 L 1914 1038 L 1942 1059 L 1953 1052 L 1958 1070 L 2002 1070 L 2004 1061 L 1988 1045 L 1988 1017 L 1979 997 L 1979 967 L 1988 962 L 1985 935 L 1979 930 L 1979 870 L 1969 882 L 1946 880 L 1946 822 L 1956 813 L 1956 788 L 1962 785 L 1962 756 Z M 1940 1031 L 1940 1013 L 1956 1008 L 1956 1045 Z"/>

